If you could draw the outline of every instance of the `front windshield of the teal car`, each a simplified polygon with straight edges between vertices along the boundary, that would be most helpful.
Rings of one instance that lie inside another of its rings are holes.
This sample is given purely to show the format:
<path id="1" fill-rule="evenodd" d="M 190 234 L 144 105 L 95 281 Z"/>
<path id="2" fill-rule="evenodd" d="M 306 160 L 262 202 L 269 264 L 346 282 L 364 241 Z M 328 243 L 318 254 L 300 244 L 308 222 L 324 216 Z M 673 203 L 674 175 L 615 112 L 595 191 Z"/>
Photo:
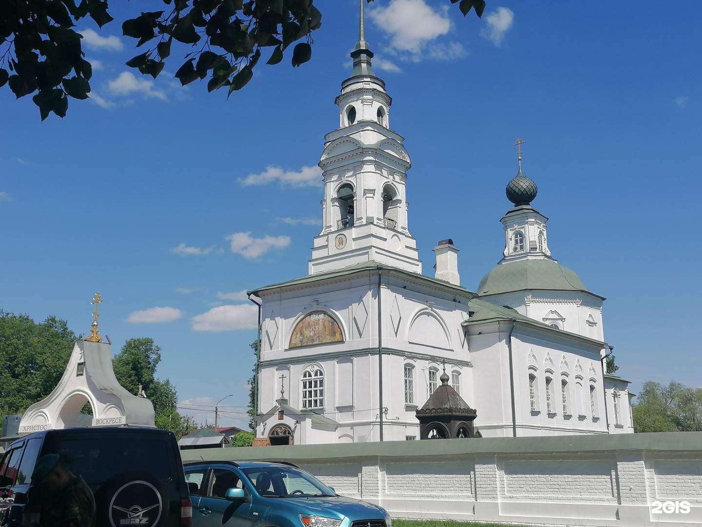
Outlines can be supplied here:
<path id="1" fill-rule="evenodd" d="M 256 492 L 265 497 L 336 496 L 322 481 L 294 467 L 252 467 L 242 470 Z"/>

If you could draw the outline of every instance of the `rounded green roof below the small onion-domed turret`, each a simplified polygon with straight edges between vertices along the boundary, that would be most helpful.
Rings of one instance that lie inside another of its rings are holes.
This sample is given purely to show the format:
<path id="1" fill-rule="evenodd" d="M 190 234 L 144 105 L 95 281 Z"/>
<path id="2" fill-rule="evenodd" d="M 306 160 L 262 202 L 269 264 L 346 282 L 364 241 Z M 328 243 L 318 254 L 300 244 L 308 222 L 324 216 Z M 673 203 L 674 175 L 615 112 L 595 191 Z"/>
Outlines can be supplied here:
<path id="1" fill-rule="evenodd" d="M 480 280 L 477 294 L 482 297 L 525 290 L 590 293 L 575 271 L 559 266 L 553 260 L 518 260 L 500 263 L 493 268 Z"/>

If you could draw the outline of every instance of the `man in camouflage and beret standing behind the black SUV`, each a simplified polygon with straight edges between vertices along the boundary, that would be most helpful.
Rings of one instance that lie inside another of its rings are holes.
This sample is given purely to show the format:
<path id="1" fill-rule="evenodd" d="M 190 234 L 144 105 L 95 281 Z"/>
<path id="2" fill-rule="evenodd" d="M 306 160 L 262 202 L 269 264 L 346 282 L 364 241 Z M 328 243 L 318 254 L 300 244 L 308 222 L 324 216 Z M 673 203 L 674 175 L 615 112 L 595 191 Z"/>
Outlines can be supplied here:
<path id="1" fill-rule="evenodd" d="M 95 497 L 82 476 L 73 474 L 58 454 L 46 454 L 37 460 L 32 472 L 32 486 L 41 488 L 48 507 L 41 527 L 94 527 Z"/>

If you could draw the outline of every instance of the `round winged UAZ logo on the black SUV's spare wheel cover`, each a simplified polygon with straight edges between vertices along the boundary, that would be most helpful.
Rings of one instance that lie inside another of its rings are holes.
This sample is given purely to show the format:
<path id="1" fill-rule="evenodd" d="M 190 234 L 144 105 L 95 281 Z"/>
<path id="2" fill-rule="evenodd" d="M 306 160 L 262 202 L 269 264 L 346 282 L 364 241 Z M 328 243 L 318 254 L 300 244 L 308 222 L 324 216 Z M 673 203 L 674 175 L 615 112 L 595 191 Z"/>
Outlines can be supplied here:
<path id="1" fill-rule="evenodd" d="M 161 519 L 161 494 L 148 481 L 129 481 L 110 500 L 112 527 L 143 525 L 153 527 Z"/>

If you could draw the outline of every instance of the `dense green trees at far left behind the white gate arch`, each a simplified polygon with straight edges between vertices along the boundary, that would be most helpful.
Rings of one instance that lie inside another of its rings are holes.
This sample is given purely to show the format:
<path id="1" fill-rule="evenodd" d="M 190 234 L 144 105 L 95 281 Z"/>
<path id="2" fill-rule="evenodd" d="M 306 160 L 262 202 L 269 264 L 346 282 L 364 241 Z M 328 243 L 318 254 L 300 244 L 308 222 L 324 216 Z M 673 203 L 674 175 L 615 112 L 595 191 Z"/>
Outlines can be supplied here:
<path id="1" fill-rule="evenodd" d="M 0 310 L 0 414 L 22 413 L 48 396 L 77 338 L 55 316 L 37 324 L 27 315 Z"/>

